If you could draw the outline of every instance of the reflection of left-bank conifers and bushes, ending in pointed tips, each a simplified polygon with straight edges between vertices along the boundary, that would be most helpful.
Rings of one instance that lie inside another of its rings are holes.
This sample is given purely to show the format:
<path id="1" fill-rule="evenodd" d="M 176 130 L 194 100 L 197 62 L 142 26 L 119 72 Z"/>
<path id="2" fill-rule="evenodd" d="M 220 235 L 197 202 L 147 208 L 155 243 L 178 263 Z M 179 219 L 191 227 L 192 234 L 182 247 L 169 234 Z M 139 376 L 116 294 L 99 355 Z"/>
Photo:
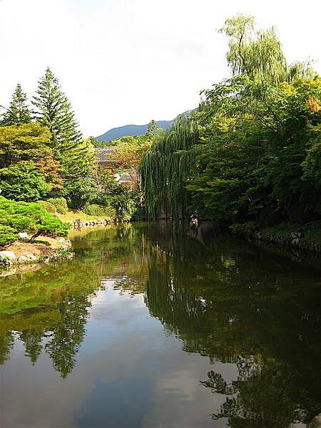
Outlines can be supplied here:
<path id="1" fill-rule="evenodd" d="M 73 260 L 10 277 L 7 286 L 10 294 L 4 295 L 4 310 L 9 313 L 1 314 L 0 320 L 1 363 L 9 360 L 14 331 L 32 364 L 46 352 L 61 377 L 66 377 L 76 363 L 90 296 L 101 286 L 100 277 Z"/>

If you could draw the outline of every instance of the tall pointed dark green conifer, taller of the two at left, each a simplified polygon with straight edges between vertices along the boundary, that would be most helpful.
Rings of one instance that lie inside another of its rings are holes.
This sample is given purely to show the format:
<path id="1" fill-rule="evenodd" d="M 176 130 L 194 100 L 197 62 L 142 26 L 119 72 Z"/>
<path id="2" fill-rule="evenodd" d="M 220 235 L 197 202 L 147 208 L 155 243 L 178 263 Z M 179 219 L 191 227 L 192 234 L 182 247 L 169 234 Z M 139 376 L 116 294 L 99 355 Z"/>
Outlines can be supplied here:
<path id="1" fill-rule="evenodd" d="M 81 132 L 71 108 L 71 102 L 61 91 L 58 78 L 46 68 L 44 77 L 32 101 L 38 109 L 36 121 L 49 128 L 52 148 L 61 155 L 81 142 Z"/>

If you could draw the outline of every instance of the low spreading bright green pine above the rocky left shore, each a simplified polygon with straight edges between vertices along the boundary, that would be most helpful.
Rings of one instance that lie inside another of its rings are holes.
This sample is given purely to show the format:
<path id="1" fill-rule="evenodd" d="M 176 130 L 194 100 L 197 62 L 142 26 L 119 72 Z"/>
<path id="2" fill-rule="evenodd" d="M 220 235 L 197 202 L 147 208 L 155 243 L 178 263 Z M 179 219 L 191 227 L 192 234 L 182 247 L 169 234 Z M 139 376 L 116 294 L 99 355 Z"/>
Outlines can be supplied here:
<path id="1" fill-rule="evenodd" d="M 62 223 L 38 203 L 15 202 L 0 196 L 0 213 L 5 213 L 1 215 L 0 224 L 7 228 L 6 235 L 11 242 L 12 234 L 18 232 L 34 233 L 33 238 L 41 234 L 55 237 L 66 236 L 70 228 L 68 223 Z"/>

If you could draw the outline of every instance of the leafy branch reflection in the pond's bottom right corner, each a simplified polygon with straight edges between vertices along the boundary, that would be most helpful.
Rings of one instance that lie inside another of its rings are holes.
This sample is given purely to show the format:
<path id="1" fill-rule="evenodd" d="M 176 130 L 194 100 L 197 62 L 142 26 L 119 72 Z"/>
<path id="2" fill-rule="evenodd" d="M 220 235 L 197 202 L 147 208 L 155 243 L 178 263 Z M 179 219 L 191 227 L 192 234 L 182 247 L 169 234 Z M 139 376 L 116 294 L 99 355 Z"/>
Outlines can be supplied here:
<path id="1" fill-rule="evenodd" d="M 297 387 L 299 374 L 289 364 L 272 359 L 253 364 L 240 358 L 237 366 L 238 379 L 230 384 L 213 370 L 208 380 L 200 382 L 214 393 L 227 395 L 213 419 L 228 418 L 233 428 L 287 428 L 318 412 L 307 391 Z M 309 408 L 310 414 L 305 410 Z"/>

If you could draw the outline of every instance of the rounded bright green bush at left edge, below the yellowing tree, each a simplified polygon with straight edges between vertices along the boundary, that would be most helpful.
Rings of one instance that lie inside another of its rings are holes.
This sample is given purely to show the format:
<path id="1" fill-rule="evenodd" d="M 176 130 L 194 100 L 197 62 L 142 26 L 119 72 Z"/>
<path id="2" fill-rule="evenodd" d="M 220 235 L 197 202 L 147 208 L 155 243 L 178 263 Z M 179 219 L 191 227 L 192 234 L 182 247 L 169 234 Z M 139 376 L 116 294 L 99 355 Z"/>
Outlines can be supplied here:
<path id="1" fill-rule="evenodd" d="M 51 185 L 34 163 L 21 161 L 0 170 L 2 195 L 14 200 L 38 200 L 49 193 Z"/>

